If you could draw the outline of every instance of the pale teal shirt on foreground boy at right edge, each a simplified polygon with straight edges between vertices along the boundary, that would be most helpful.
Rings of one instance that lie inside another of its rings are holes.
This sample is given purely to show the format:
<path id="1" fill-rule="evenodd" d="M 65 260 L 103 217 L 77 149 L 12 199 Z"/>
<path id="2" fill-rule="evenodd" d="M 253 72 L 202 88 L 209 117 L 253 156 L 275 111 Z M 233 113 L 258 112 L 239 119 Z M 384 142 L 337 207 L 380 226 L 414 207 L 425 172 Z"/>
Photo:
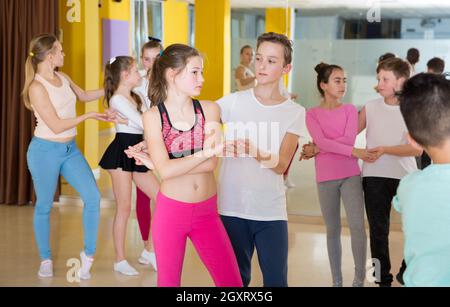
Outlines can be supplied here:
<path id="1" fill-rule="evenodd" d="M 450 286 L 450 164 L 404 177 L 393 203 L 402 215 L 405 286 Z"/>

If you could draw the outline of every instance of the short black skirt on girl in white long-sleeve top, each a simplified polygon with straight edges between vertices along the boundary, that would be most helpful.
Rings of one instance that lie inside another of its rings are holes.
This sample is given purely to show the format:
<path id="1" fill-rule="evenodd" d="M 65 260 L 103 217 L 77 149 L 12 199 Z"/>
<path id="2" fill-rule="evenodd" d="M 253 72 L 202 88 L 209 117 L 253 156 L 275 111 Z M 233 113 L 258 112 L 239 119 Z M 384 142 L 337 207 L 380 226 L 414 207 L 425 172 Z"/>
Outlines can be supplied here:
<path id="1" fill-rule="evenodd" d="M 125 172 L 146 173 L 147 167 L 136 165 L 136 160 L 128 158 L 125 154 L 125 150 L 129 146 L 139 144 L 143 140 L 142 134 L 116 133 L 114 141 L 108 146 L 100 160 L 100 167 L 103 169 L 122 169 Z"/>

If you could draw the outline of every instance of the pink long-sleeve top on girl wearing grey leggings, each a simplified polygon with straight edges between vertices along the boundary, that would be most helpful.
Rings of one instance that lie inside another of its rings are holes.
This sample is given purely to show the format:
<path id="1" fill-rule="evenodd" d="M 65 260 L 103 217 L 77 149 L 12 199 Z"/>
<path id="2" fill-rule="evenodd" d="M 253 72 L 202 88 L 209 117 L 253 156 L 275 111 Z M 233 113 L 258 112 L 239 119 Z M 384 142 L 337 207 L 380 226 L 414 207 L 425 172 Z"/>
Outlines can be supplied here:
<path id="1" fill-rule="evenodd" d="M 355 106 L 343 104 L 333 110 L 311 108 L 306 112 L 306 126 L 320 149 L 315 158 L 317 182 L 361 174 L 358 159 L 352 156 L 358 134 L 358 110 Z"/>

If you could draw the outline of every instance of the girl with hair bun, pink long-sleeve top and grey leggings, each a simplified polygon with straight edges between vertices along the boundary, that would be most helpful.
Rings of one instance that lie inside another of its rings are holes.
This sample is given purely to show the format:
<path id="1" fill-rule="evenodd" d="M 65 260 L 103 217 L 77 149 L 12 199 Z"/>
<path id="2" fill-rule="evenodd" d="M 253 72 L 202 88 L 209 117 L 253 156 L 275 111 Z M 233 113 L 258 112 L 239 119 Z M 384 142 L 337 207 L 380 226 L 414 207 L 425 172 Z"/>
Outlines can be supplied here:
<path id="1" fill-rule="evenodd" d="M 337 65 L 317 65 L 317 87 L 322 96 L 318 107 L 306 113 L 306 125 L 319 150 L 315 157 L 317 189 L 327 227 L 327 247 L 333 286 L 342 286 L 341 198 L 350 227 L 355 262 L 353 286 L 363 286 L 366 262 L 364 198 L 358 158 L 370 161 L 372 154 L 354 147 L 358 134 L 358 111 L 342 104 L 346 77 Z"/>

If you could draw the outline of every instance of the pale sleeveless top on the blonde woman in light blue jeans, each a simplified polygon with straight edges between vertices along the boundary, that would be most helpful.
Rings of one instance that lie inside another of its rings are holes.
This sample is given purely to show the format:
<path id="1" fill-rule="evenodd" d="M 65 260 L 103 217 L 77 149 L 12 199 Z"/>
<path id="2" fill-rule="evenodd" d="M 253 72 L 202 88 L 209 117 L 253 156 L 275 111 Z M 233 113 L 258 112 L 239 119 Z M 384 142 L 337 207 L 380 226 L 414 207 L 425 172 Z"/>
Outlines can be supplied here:
<path id="1" fill-rule="evenodd" d="M 45 80 L 39 74 L 36 74 L 34 79 L 39 81 L 47 90 L 50 102 L 58 114 L 60 119 L 76 118 L 76 103 L 77 97 L 70 87 L 70 82 L 63 75 L 55 72 L 55 74 L 61 79 L 62 86 L 56 87 L 50 82 Z M 44 120 L 39 116 L 39 113 L 35 110 L 34 115 L 36 116 L 36 128 L 34 130 L 34 135 L 42 139 L 61 139 L 75 137 L 77 135 L 77 128 L 66 130 L 62 133 L 55 134 L 44 122 Z"/>

